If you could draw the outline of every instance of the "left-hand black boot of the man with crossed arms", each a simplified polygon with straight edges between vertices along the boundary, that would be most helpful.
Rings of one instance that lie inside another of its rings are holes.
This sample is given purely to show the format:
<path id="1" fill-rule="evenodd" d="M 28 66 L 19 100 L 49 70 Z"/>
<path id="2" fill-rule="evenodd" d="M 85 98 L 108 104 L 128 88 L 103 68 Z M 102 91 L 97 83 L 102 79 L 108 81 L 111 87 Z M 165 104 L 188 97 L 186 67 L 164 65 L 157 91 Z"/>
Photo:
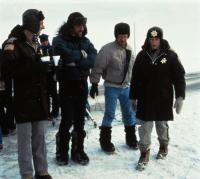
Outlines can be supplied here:
<path id="1" fill-rule="evenodd" d="M 70 133 L 67 133 L 66 136 L 60 136 L 59 132 L 56 134 L 56 161 L 58 165 L 67 165 L 69 162 L 70 137 Z"/>

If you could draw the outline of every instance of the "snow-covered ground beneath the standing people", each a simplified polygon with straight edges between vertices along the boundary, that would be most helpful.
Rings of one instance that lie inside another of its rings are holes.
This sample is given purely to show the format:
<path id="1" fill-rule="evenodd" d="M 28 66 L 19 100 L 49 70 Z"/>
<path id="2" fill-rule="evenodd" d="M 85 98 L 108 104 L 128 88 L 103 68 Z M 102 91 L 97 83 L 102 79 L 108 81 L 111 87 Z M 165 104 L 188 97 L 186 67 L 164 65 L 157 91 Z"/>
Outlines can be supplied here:
<path id="1" fill-rule="evenodd" d="M 125 145 L 124 128 L 121 123 L 119 109 L 113 123 L 112 141 L 116 154 L 107 155 L 99 147 L 99 129 L 94 128 L 91 121 L 86 122 L 87 138 L 85 150 L 90 157 L 87 166 L 69 162 L 67 166 L 57 166 L 55 163 L 55 134 L 59 120 L 53 127 L 47 124 L 47 148 L 49 173 L 54 179 L 129 179 L 129 178 L 200 178 L 200 75 L 192 74 L 187 77 L 187 97 L 181 115 L 175 114 L 175 120 L 169 122 L 170 145 L 166 160 L 156 160 L 158 141 L 155 129 L 152 133 L 152 149 L 150 162 L 143 172 L 135 170 L 139 151 L 133 151 Z M 92 105 L 92 115 L 98 125 L 103 116 L 103 96 L 98 101 L 89 99 Z M 4 139 L 4 149 L 0 152 L 0 179 L 18 179 L 16 136 Z"/>

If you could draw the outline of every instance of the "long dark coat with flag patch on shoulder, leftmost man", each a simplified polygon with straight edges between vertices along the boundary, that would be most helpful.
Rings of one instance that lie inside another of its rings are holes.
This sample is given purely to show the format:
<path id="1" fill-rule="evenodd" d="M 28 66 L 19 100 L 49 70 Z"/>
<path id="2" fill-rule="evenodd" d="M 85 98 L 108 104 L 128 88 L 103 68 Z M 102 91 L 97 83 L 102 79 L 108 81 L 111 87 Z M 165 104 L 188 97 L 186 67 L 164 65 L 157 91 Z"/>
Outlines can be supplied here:
<path id="1" fill-rule="evenodd" d="M 39 47 L 39 45 L 38 45 Z M 14 81 L 14 112 L 17 123 L 46 119 L 45 66 L 26 42 L 23 28 L 16 26 L 3 44 L 2 76 Z"/>

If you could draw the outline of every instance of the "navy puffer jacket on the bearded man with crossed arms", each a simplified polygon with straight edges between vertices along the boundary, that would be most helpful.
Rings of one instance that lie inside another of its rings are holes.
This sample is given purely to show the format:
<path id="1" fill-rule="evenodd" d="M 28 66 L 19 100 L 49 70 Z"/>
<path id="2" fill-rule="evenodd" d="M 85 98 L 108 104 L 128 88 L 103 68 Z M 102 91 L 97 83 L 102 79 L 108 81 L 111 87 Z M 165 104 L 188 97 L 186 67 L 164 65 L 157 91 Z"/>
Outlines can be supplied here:
<path id="1" fill-rule="evenodd" d="M 94 65 L 97 51 L 86 37 L 72 37 L 58 35 L 53 39 L 53 53 L 60 55 L 59 81 L 87 79 L 90 69 Z M 81 50 L 88 57 L 83 58 Z"/>

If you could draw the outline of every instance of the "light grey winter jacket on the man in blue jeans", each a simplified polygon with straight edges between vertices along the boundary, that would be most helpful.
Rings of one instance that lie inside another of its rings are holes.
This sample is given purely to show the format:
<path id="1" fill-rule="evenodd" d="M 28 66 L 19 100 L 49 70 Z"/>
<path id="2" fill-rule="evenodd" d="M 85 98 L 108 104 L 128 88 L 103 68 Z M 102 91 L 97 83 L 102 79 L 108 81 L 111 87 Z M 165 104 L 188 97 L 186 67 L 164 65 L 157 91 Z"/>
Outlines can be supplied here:
<path id="1" fill-rule="evenodd" d="M 127 87 L 130 83 L 133 63 L 134 56 L 129 45 L 125 49 L 115 41 L 108 43 L 97 55 L 90 82 L 98 84 L 102 76 L 105 86 Z"/>

